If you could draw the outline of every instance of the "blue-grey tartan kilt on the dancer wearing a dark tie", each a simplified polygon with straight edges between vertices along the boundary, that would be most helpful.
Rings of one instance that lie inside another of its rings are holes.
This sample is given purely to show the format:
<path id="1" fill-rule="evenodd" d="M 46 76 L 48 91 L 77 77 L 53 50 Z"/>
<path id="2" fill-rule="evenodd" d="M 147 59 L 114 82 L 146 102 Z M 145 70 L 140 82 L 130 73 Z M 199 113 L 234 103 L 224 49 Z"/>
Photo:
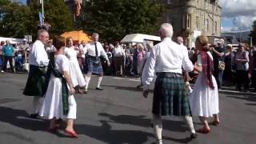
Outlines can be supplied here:
<path id="1" fill-rule="evenodd" d="M 100 58 L 92 57 L 88 55 L 86 57 L 86 74 L 103 74 L 102 62 Z"/>

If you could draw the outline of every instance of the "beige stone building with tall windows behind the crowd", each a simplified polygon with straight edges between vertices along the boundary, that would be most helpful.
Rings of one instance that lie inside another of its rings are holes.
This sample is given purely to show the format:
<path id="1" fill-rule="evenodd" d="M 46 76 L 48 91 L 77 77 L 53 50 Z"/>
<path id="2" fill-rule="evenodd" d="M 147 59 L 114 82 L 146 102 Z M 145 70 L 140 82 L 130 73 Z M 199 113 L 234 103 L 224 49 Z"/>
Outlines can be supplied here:
<path id="1" fill-rule="evenodd" d="M 193 47 L 195 38 L 204 34 L 221 36 L 222 8 L 218 0 L 159 0 L 166 5 L 166 13 L 160 22 L 174 27 L 174 37 L 182 36 L 187 46 Z"/>

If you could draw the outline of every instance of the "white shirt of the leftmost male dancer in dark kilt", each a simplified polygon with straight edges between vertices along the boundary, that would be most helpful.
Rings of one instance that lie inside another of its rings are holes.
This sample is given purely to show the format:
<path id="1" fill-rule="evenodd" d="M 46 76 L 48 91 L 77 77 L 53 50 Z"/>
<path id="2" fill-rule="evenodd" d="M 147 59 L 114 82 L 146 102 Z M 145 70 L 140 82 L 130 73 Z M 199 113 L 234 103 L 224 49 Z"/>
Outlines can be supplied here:
<path id="1" fill-rule="evenodd" d="M 34 66 L 48 66 L 49 59 L 44 44 L 36 40 L 30 50 L 29 63 Z"/>

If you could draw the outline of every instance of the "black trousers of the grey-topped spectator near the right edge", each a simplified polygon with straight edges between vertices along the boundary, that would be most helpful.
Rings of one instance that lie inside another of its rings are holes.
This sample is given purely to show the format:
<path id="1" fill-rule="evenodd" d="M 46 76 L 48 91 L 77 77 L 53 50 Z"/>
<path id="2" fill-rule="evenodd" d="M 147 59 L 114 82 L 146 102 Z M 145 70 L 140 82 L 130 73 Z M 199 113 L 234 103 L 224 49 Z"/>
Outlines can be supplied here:
<path id="1" fill-rule="evenodd" d="M 241 86 L 243 84 L 245 90 L 249 90 L 249 78 L 248 78 L 248 70 L 237 70 L 236 75 L 238 90 L 241 90 Z"/>

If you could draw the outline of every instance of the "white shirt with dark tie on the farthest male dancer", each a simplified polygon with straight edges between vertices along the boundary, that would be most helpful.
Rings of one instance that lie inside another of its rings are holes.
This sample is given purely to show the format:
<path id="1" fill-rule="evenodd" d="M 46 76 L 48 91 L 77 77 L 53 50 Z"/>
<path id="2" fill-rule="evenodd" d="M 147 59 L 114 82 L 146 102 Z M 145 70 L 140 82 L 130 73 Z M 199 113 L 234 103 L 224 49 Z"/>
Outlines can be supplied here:
<path id="1" fill-rule="evenodd" d="M 103 49 L 102 44 L 100 42 L 96 42 L 96 45 L 97 45 L 97 50 L 98 50 L 98 57 L 100 57 L 102 55 L 102 56 L 104 56 L 104 58 L 106 58 L 106 61 L 109 61 L 109 58 L 107 58 L 106 52 Z M 90 56 L 96 57 L 95 42 L 90 42 L 89 44 L 87 44 L 86 48 L 85 48 L 85 52 L 88 53 L 88 55 L 90 55 Z"/>

